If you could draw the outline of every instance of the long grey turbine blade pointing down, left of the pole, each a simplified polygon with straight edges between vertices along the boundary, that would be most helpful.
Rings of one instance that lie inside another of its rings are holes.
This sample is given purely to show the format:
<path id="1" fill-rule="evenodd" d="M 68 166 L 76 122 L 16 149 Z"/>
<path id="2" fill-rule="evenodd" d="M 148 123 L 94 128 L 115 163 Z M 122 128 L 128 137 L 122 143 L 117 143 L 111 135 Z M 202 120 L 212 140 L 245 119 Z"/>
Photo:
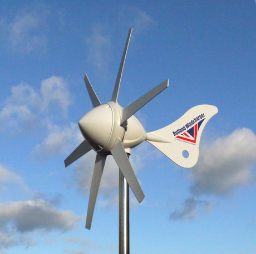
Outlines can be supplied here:
<path id="1" fill-rule="evenodd" d="M 100 187 L 100 181 L 102 172 L 104 169 L 106 161 L 106 155 L 97 154 L 93 175 L 92 175 L 92 184 L 91 184 L 91 190 L 90 190 L 90 197 L 89 197 L 89 204 L 88 204 L 88 210 L 87 210 L 87 217 L 86 217 L 86 225 L 85 227 L 90 230 L 91 229 L 91 223 L 92 223 L 92 217 L 93 212 L 96 204 L 96 199 Z"/>

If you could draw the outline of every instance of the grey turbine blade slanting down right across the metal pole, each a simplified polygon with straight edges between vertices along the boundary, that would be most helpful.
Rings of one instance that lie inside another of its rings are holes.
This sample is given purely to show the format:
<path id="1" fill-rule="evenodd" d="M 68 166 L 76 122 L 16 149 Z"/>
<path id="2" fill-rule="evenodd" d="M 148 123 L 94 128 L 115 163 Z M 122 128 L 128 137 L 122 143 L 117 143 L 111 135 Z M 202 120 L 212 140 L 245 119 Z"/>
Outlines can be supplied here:
<path id="1" fill-rule="evenodd" d="M 132 169 L 131 163 L 128 159 L 127 154 L 125 153 L 124 146 L 122 145 L 120 139 L 116 140 L 116 144 L 111 150 L 111 154 L 113 155 L 116 164 L 119 166 L 129 186 L 131 187 L 132 192 L 134 192 L 136 199 L 141 202 L 144 199 L 145 195 L 141 189 L 135 172 Z"/>

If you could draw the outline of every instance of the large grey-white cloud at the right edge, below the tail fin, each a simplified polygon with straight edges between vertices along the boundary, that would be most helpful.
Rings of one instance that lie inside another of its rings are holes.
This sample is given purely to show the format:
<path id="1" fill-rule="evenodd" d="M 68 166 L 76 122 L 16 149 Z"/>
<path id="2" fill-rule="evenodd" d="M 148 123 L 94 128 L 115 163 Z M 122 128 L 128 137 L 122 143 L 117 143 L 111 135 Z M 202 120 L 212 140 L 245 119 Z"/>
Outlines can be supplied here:
<path id="1" fill-rule="evenodd" d="M 200 151 L 198 163 L 190 170 L 191 192 L 195 195 L 224 195 L 252 180 L 256 161 L 256 135 L 238 129 Z"/>

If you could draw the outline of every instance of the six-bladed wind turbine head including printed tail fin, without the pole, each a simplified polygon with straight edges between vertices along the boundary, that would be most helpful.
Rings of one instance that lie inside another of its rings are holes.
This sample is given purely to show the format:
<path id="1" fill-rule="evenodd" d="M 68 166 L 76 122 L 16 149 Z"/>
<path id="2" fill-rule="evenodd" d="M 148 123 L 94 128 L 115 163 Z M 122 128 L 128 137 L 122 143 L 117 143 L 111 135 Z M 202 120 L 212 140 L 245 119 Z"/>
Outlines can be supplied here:
<path id="1" fill-rule="evenodd" d="M 86 228 L 89 230 L 91 228 L 101 176 L 108 155 L 114 157 L 136 199 L 141 202 L 145 195 L 127 157 L 127 154 L 131 153 L 131 148 L 146 140 L 176 164 L 183 167 L 192 167 L 198 160 L 199 141 L 204 126 L 211 116 L 218 112 L 215 106 L 195 106 L 173 124 L 163 129 L 146 133 L 134 114 L 167 88 L 169 80 L 166 79 L 126 108 L 122 108 L 117 103 L 131 32 L 132 29 L 130 29 L 126 40 L 111 101 L 101 104 L 87 74 L 85 74 L 84 80 L 93 109 L 88 111 L 78 121 L 85 140 L 65 160 L 65 166 L 67 167 L 91 149 L 97 153 L 86 217 Z M 184 153 L 188 153 L 188 156 L 185 156 Z"/>

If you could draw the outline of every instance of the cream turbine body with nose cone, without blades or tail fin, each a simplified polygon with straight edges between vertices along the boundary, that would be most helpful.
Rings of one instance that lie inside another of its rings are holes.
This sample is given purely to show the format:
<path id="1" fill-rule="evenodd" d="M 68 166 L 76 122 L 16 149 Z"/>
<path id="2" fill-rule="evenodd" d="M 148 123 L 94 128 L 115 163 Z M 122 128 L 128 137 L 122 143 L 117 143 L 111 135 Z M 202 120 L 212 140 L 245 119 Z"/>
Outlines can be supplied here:
<path id="1" fill-rule="evenodd" d="M 88 111 L 78 121 L 83 137 L 97 153 L 110 154 L 116 140 L 124 144 L 126 153 L 146 139 L 146 131 L 140 121 L 131 116 L 121 124 L 124 109 L 114 101 L 104 103 Z"/>

